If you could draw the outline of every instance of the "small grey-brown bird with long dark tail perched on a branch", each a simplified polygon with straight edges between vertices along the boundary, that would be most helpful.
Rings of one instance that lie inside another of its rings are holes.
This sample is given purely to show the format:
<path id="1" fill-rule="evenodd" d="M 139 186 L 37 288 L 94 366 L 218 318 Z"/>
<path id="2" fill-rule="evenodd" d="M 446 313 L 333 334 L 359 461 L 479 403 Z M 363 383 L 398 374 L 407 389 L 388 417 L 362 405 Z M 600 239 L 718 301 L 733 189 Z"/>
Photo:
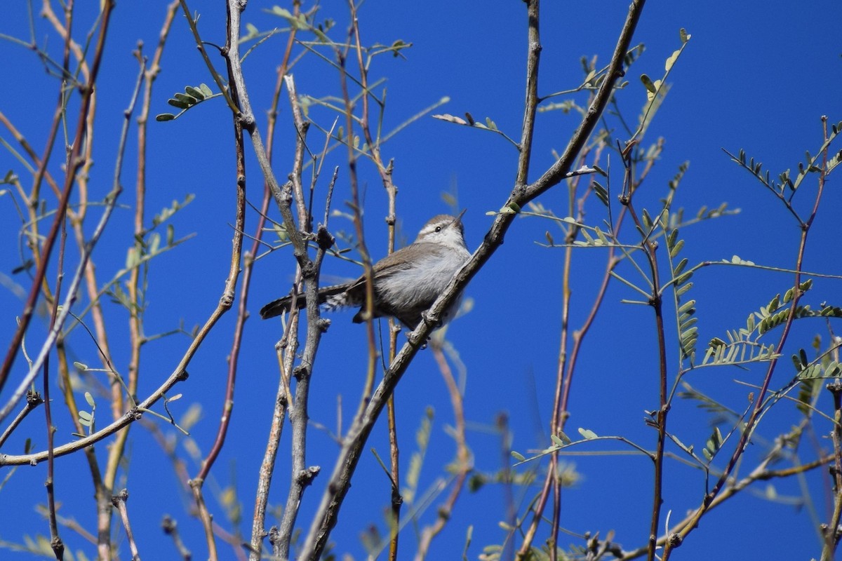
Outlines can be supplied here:
<path id="1" fill-rule="evenodd" d="M 465 230 L 462 215 L 439 214 L 434 216 L 418 232 L 415 241 L 403 247 L 371 267 L 374 290 L 373 317 L 393 317 L 415 330 L 435 299 L 442 294 L 462 265 L 471 257 L 465 245 Z M 266 304 L 260 310 L 264 320 L 290 311 L 293 296 Z M 459 310 L 461 294 L 450 308 L 445 310 L 442 323 L 452 319 Z M 354 323 L 362 323 L 365 317 L 365 275 L 344 284 L 318 289 L 319 304 L 327 304 L 327 310 L 360 306 L 354 315 Z M 298 294 L 296 307 L 306 306 L 304 294 Z"/>

